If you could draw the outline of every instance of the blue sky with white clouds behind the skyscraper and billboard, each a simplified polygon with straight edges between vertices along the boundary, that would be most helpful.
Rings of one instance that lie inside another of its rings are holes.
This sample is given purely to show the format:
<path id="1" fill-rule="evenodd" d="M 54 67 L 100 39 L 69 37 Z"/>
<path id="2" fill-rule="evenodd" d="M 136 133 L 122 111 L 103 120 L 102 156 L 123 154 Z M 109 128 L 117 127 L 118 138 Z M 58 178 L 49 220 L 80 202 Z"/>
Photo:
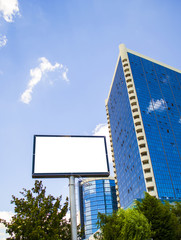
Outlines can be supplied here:
<path id="1" fill-rule="evenodd" d="M 0 0 L 0 216 L 33 186 L 34 134 L 107 134 L 120 43 L 181 69 L 180 11 L 179 0 Z M 43 183 L 68 195 L 67 179 Z"/>

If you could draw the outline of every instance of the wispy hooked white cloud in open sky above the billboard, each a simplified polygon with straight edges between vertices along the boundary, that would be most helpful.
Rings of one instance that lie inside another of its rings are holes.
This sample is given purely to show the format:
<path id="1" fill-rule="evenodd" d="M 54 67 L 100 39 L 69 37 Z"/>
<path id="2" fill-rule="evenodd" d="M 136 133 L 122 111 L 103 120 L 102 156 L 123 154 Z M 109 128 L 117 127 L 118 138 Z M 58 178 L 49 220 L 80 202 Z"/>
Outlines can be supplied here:
<path id="1" fill-rule="evenodd" d="M 67 77 L 68 68 L 63 66 L 60 63 L 55 63 L 55 65 L 52 65 L 48 59 L 45 57 L 39 58 L 40 64 L 38 67 L 30 69 L 30 81 L 28 83 L 28 86 L 26 90 L 21 95 L 21 101 L 23 103 L 29 104 L 32 100 L 32 93 L 33 88 L 41 81 L 43 75 L 45 75 L 48 72 L 54 72 L 55 70 L 61 70 L 61 77 L 64 81 L 69 82 L 69 79 Z M 50 84 L 53 82 L 50 81 Z"/>

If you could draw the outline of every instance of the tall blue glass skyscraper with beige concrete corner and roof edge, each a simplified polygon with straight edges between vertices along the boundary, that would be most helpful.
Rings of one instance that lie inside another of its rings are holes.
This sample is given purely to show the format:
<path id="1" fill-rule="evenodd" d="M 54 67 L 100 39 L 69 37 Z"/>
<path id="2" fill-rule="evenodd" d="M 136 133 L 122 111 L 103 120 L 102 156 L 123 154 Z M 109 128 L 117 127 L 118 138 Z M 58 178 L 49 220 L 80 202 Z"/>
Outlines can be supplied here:
<path id="1" fill-rule="evenodd" d="M 106 100 L 118 204 L 181 200 L 181 71 L 119 50 Z"/>

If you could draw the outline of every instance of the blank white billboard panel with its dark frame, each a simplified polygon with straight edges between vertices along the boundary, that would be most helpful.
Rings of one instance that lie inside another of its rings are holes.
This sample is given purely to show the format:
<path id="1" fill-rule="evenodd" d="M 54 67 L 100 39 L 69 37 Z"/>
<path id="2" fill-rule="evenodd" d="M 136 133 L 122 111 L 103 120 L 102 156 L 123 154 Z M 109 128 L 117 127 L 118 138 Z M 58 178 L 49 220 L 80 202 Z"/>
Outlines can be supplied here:
<path id="1" fill-rule="evenodd" d="M 109 176 L 104 136 L 35 135 L 33 178 Z"/>

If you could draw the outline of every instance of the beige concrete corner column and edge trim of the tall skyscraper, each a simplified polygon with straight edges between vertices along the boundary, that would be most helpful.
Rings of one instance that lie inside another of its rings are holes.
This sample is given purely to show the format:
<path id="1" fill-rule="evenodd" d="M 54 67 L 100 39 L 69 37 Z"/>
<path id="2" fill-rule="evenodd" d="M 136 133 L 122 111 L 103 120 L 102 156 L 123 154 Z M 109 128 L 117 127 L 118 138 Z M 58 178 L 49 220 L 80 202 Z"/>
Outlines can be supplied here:
<path id="1" fill-rule="evenodd" d="M 134 127 L 135 127 L 137 143 L 138 143 L 138 147 L 139 147 L 139 153 L 140 153 L 140 158 L 141 158 L 141 163 L 142 163 L 142 169 L 143 169 L 143 174 L 144 174 L 144 179 L 145 179 L 146 190 L 150 195 L 158 197 L 157 187 L 156 187 L 156 183 L 155 183 L 155 177 L 154 177 L 153 168 L 152 168 L 152 162 L 151 162 L 151 158 L 150 158 L 150 154 L 149 154 L 146 134 L 145 134 L 144 125 L 143 125 L 143 120 L 142 120 L 139 102 L 138 102 L 138 98 L 137 98 L 134 79 L 133 79 L 133 75 L 132 75 L 132 71 L 131 71 L 131 67 L 130 67 L 130 63 L 129 63 L 129 58 L 128 58 L 128 54 L 127 54 L 128 52 L 135 54 L 137 56 L 140 56 L 142 58 L 145 58 L 149 61 L 152 61 L 152 62 L 159 64 L 161 66 L 164 66 L 166 68 L 169 68 L 171 70 L 177 71 L 178 73 L 181 73 L 181 71 L 178 69 L 175 69 L 175 68 L 170 67 L 166 64 L 163 64 L 159 61 L 156 61 L 149 57 L 143 56 L 142 54 L 139 54 L 132 50 L 127 49 L 124 44 L 121 44 L 119 46 L 119 57 L 117 60 L 116 69 L 115 69 L 114 76 L 112 79 L 108 99 L 106 100 L 106 112 L 107 112 L 109 135 L 110 135 L 110 141 L 111 141 L 111 151 L 112 151 L 112 156 L 113 156 L 113 167 L 114 167 L 114 173 L 115 173 L 114 177 L 115 177 L 117 198 L 118 198 L 119 206 L 120 206 L 120 200 L 119 200 L 118 183 L 117 183 L 117 175 L 116 175 L 116 164 L 115 164 L 115 159 L 114 159 L 114 148 L 113 148 L 113 143 L 112 143 L 111 126 L 110 126 L 109 111 L 108 111 L 107 104 L 108 104 L 110 92 L 112 89 L 115 74 L 117 71 L 117 66 L 118 66 L 120 59 L 122 61 L 124 77 L 125 77 L 126 86 L 127 86 L 127 92 L 128 92 L 128 96 L 129 96 L 129 100 L 130 100 L 130 107 L 131 107 L 131 112 L 132 112 L 132 117 L 133 117 L 133 122 L 134 122 Z"/>

